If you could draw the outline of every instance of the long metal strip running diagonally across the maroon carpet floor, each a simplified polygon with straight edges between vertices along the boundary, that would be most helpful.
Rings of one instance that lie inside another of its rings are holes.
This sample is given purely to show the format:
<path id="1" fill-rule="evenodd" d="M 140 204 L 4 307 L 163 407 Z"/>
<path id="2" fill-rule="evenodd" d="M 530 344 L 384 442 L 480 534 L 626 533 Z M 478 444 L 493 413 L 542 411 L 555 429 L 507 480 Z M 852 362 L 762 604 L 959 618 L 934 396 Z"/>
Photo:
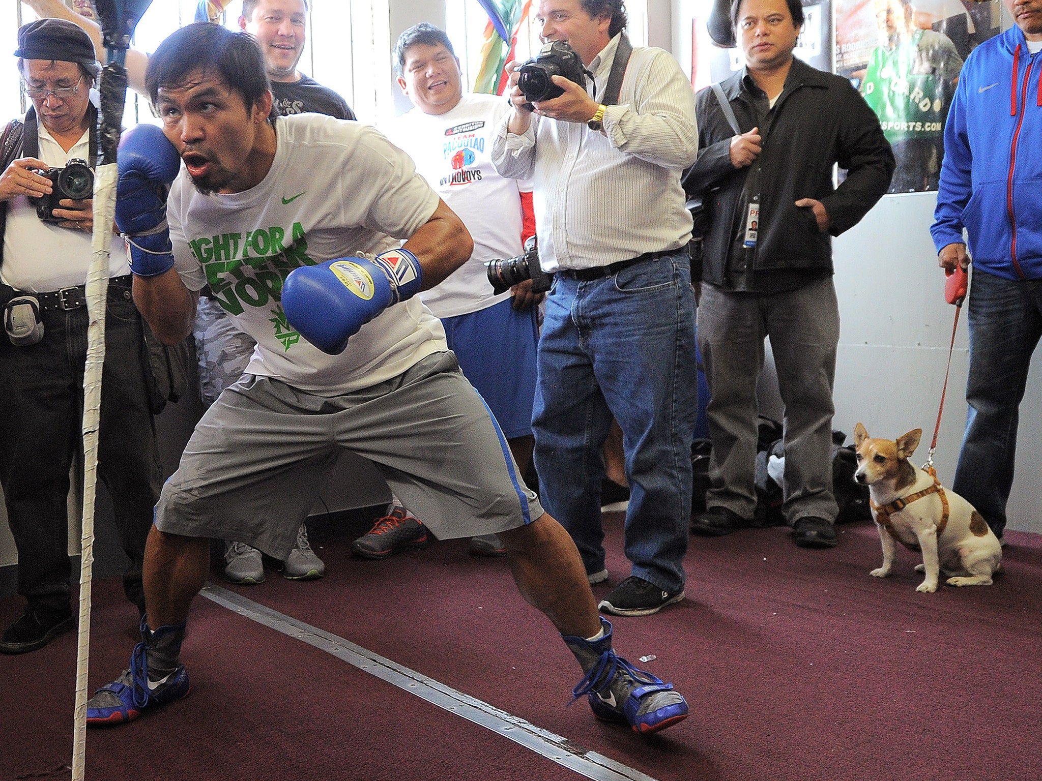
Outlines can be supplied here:
<path id="1" fill-rule="evenodd" d="M 587 778 L 595 781 L 655 781 L 638 770 L 616 762 L 597 752 L 588 751 L 568 738 L 529 724 L 505 710 L 446 686 L 433 678 L 367 651 L 350 640 L 272 610 L 227 588 L 207 583 L 201 594 L 222 607 L 325 651 L 403 691 L 416 695 L 455 715 L 490 729 Z"/>

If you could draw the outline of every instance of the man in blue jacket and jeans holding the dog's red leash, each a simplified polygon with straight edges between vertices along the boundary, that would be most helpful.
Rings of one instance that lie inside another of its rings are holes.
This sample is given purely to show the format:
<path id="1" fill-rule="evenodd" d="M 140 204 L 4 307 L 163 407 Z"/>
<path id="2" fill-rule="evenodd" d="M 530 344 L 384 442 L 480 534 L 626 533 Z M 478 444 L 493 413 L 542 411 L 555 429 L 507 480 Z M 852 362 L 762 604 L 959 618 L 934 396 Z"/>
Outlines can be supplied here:
<path id="1" fill-rule="evenodd" d="M 942 268 L 966 269 L 970 256 L 974 267 L 969 414 L 952 488 L 1000 539 L 1017 408 L 1042 336 L 1042 0 L 1003 2 L 1016 25 L 981 44 L 960 75 L 931 228 Z"/>

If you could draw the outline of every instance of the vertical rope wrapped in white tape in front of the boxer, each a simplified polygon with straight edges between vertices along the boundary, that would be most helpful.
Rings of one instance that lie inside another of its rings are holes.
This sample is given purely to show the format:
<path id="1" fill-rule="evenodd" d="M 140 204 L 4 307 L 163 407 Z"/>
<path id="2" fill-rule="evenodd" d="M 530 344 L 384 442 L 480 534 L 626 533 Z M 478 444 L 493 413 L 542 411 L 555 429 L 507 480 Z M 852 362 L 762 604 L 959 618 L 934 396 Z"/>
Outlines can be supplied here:
<path id="1" fill-rule="evenodd" d="M 86 753 L 86 673 L 91 653 L 91 581 L 94 570 L 94 499 L 101 422 L 101 369 L 105 362 L 108 261 L 116 215 L 116 163 L 99 166 L 94 178 L 93 256 L 86 273 L 86 364 L 83 368 L 83 528 L 80 536 L 79 641 L 76 647 L 76 708 L 73 712 L 72 779 L 82 781 Z"/>

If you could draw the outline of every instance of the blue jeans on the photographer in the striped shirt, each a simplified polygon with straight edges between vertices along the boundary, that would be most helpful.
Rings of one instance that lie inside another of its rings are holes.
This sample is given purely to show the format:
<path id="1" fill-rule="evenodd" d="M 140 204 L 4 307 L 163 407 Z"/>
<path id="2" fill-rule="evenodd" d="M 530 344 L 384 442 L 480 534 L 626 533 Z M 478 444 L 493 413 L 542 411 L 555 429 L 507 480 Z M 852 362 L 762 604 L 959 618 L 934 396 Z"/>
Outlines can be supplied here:
<path id="1" fill-rule="evenodd" d="M 588 573 L 604 569 L 601 453 L 614 415 L 629 482 L 632 574 L 669 591 L 684 587 L 697 396 L 686 251 L 594 281 L 556 275 L 539 342 L 536 469 L 540 500 Z"/>

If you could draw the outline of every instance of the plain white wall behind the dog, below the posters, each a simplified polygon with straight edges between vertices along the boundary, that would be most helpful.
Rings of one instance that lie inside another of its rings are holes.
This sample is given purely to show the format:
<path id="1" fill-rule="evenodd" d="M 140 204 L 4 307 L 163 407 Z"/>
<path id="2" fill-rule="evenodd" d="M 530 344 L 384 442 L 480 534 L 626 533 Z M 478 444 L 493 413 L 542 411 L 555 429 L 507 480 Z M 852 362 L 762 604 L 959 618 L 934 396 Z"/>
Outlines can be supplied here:
<path id="1" fill-rule="evenodd" d="M 929 237 L 934 193 L 885 196 L 836 240 L 836 288 L 842 327 L 836 369 L 835 427 L 852 435 L 859 421 L 873 436 L 923 430 L 915 460 L 926 460 L 944 383 L 954 307 Z M 950 485 L 966 424 L 966 311 L 960 317 L 951 378 L 934 460 Z M 1016 479 L 1009 528 L 1042 532 L 1042 358 L 1032 361 L 1020 405 Z"/>

